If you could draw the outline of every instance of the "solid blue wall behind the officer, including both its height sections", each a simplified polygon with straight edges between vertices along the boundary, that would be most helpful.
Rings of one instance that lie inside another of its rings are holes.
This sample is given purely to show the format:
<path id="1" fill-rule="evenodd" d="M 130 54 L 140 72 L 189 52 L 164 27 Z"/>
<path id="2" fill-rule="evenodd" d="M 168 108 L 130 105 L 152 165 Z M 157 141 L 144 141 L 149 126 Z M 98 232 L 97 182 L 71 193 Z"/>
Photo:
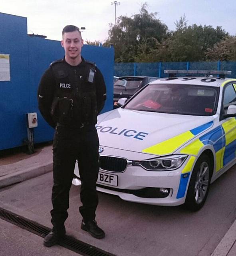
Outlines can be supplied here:
<path id="1" fill-rule="evenodd" d="M 44 121 L 37 102 L 40 78 L 50 63 L 63 58 L 59 41 L 27 35 L 27 18 L 0 13 L 0 54 L 10 54 L 10 82 L 0 81 L 0 150 L 22 146 L 27 138 L 27 112 L 37 112 L 34 142 L 52 140 L 53 129 Z M 82 55 L 96 62 L 107 86 L 103 112 L 113 108 L 114 49 L 84 45 Z"/>

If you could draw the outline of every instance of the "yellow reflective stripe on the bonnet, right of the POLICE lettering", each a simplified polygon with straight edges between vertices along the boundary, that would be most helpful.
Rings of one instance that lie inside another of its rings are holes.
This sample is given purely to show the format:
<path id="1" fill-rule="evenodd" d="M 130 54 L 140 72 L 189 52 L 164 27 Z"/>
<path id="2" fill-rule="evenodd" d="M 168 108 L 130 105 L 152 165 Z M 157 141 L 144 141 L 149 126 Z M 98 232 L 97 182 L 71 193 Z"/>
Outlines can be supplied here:
<path id="1" fill-rule="evenodd" d="M 194 135 L 192 134 L 192 132 L 184 132 L 173 138 L 170 138 L 169 140 L 165 140 L 159 144 L 156 144 L 149 148 L 145 148 L 144 150 L 142 150 L 142 152 L 156 155 L 170 154 L 193 137 Z"/>

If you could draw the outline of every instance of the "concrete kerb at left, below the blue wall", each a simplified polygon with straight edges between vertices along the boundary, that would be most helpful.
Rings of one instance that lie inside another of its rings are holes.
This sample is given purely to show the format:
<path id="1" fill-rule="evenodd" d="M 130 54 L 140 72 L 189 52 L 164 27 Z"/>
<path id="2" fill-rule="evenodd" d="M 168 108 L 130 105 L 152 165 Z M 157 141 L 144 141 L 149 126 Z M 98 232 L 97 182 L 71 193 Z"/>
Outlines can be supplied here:
<path id="1" fill-rule="evenodd" d="M 34 166 L 27 167 L 24 170 L 4 175 L 0 177 L 0 188 L 28 180 L 47 172 L 52 171 L 52 161 L 45 162 L 43 165 L 35 164 Z"/>

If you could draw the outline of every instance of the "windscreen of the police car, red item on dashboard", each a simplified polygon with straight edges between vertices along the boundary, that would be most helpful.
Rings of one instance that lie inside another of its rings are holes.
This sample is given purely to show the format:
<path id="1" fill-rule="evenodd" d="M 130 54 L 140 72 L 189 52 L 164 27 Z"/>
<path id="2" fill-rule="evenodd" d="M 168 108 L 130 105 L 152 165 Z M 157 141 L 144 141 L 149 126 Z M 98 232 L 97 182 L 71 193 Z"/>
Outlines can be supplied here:
<path id="1" fill-rule="evenodd" d="M 149 84 L 124 108 L 150 112 L 211 116 L 215 114 L 218 89 L 189 84 Z"/>

